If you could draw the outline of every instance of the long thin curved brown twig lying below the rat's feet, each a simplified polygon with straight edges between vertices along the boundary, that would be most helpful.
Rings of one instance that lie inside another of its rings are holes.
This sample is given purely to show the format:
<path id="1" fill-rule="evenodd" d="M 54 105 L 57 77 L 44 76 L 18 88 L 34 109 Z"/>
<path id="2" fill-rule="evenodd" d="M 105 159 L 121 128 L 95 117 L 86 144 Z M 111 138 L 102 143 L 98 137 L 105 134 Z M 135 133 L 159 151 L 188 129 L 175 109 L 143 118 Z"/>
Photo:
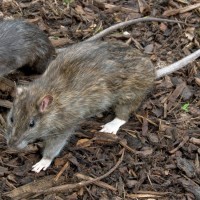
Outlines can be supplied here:
<path id="1" fill-rule="evenodd" d="M 109 176 L 112 172 L 114 172 L 119 165 L 122 163 L 123 158 L 124 158 L 124 152 L 125 149 L 123 149 L 122 151 L 122 155 L 120 157 L 120 159 L 117 161 L 116 165 L 111 168 L 107 173 L 105 173 L 104 175 L 92 179 L 92 180 L 88 180 L 88 181 L 81 181 L 79 183 L 74 183 L 74 184 L 66 184 L 66 185 L 61 185 L 61 186 L 57 186 L 57 187 L 52 187 L 50 189 L 46 189 L 46 190 L 38 190 L 37 194 L 44 194 L 44 193 L 55 193 L 55 192 L 66 192 L 66 190 L 72 190 L 72 189 L 76 189 L 76 188 L 80 188 L 80 187 L 85 187 L 87 185 L 90 185 L 91 183 L 94 183 L 96 181 L 100 181 L 103 178 L 106 178 L 107 176 Z"/>

